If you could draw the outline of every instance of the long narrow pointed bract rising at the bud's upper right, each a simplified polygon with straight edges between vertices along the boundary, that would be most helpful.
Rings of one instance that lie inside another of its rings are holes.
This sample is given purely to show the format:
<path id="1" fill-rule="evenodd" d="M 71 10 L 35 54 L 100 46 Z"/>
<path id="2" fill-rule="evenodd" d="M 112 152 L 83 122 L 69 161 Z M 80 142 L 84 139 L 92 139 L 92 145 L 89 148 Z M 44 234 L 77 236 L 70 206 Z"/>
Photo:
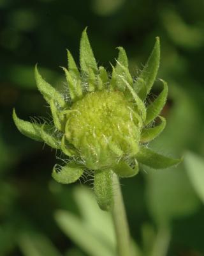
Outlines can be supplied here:
<path id="1" fill-rule="evenodd" d="M 136 92 L 139 92 L 139 96 L 141 99 L 145 99 L 147 94 L 150 92 L 152 85 L 154 84 L 154 80 L 156 79 L 157 72 L 159 69 L 159 61 L 160 61 L 160 42 L 159 37 L 156 37 L 156 43 L 154 45 L 154 49 L 150 54 L 150 57 L 143 68 L 140 76 L 138 77 L 135 83 Z M 143 84 L 145 84 L 145 90 L 143 90 Z M 140 93 L 140 90 L 142 90 Z"/>

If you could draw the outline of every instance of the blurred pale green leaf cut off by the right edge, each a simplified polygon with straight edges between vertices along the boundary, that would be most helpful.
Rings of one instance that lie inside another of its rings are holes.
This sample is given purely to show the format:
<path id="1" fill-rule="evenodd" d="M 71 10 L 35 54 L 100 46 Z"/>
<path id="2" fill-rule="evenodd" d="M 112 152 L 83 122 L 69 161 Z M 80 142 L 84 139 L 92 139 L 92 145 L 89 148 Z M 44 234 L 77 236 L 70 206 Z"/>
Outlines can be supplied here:
<path id="1" fill-rule="evenodd" d="M 204 159 L 192 152 L 187 152 L 184 164 L 194 190 L 204 203 Z"/>

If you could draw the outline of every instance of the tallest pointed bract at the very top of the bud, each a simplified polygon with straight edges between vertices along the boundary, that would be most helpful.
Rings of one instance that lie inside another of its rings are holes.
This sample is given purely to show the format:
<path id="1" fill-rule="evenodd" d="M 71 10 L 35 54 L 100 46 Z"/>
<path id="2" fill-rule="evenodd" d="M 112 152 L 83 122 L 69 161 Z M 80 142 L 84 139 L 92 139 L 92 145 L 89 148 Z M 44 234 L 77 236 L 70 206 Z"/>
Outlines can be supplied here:
<path id="1" fill-rule="evenodd" d="M 87 28 L 84 29 L 80 41 L 80 66 L 82 72 L 86 74 L 89 74 L 89 68 L 92 68 L 94 73 L 98 72 L 97 63 L 87 36 Z"/>

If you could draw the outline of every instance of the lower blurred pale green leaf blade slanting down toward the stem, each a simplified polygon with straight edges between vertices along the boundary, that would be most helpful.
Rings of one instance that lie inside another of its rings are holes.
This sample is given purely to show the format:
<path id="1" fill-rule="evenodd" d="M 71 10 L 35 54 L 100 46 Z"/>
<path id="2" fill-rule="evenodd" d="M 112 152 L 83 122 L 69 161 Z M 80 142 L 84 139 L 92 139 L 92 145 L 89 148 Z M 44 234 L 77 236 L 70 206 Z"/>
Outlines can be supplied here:
<path id="1" fill-rule="evenodd" d="M 85 225 L 84 221 L 80 220 L 68 211 L 55 212 L 55 220 L 61 230 L 78 245 L 87 255 L 90 256 L 113 256 L 109 246 L 105 246 L 103 240 L 92 232 L 89 225 Z"/>

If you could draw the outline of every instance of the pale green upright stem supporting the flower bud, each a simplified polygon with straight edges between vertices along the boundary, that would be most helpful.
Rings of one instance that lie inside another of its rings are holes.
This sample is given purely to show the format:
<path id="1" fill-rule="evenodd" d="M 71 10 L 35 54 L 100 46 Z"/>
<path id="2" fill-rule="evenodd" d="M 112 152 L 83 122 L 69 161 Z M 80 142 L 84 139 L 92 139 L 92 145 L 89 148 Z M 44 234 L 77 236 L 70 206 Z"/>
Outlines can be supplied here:
<path id="1" fill-rule="evenodd" d="M 113 173 L 113 223 L 115 226 L 115 234 L 117 238 L 117 250 L 119 256 L 131 256 L 129 243 L 129 227 L 126 217 L 126 210 L 122 198 L 119 179 Z"/>

